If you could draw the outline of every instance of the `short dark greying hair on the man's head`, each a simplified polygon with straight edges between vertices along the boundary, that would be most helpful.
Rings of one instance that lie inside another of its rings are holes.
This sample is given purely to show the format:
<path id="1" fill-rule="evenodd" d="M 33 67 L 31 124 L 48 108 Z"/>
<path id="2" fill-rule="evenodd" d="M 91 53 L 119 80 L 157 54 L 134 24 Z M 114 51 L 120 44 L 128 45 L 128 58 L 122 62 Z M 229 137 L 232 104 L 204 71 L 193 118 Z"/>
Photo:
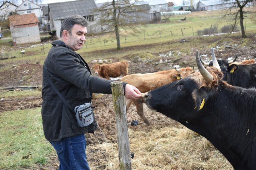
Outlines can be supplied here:
<path id="1" fill-rule="evenodd" d="M 62 37 L 63 30 L 67 30 L 71 35 L 71 29 L 75 24 L 86 27 L 88 21 L 81 15 L 69 15 L 64 18 L 60 27 L 60 37 Z"/>

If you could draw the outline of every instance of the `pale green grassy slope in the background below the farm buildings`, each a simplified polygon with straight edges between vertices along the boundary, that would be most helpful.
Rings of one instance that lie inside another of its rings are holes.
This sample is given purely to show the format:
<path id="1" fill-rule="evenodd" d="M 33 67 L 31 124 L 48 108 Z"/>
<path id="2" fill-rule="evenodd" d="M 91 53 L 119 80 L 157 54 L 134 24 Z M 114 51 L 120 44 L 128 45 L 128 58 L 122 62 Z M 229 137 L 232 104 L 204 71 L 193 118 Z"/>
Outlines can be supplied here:
<path id="1" fill-rule="evenodd" d="M 132 32 L 132 30 L 123 30 L 120 28 L 120 42 L 121 48 L 128 46 L 138 46 L 141 44 L 155 44 L 160 42 L 168 42 L 179 40 L 186 37 L 196 36 L 197 30 L 203 30 L 204 28 L 210 28 L 212 26 L 217 26 L 218 30 L 225 25 L 232 23 L 232 20 L 226 18 L 221 20 L 222 16 L 225 14 L 225 10 L 215 10 L 215 11 L 197 11 L 192 12 L 189 15 L 173 15 L 170 16 L 170 22 L 157 23 L 157 24 L 147 24 L 137 26 L 139 33 L 128 34 L 127 32 Z M 186 17 L 185 22 L 178 21 L 180 18 Z M 246 33 L 255 31 L 255 20 L 252 19 L 246 20 Z M 202 22 L 203 21 L 203 22 Z M 239 26 L 240 28 L 240 26 Z M 182 32 L 183 35 L 182 36 Z M 241 34 L 241 33 L 238 33 Z M 3 40 L 0 40 L 0 43 Z M 105 44 L 104 44 L 105 41 Z M 87 47 L 86 47 L 87 46 Z M 42 50 L 42 45 L 37 46 L 28 46 L 23 47 L 26 52 L 22 57 L 21 48 L 9 47 L 5 48 L 4 53 L 8 53 L 9 57 L 15 56 L 16 58 L 12 59 L 13 63 L 21 63 L 22 61 L 26 62 L 37 62 L 40 61 L 42 64 L 51 45 L 49 43 L 44 43 L 45 54 Z M 86 44 L 79 51 L 80 54 L 86 54 L 87 52 L 104 50 L 104 49 L 116 49 L 116 37 L 114 32 L 103 34 L 100 36 L 87 37 Z M 134 53 L 140 53 L 141 51 L 133 51 Z M 122 53 L 118 53 L 118 56 L 122 57 Z M 131 52 L 130 52 L 131 53 Z M 154 53 L 154 52 L 152 52 Z M 83 56 L 83 55 L 82 55 Z M 88 59 L 95 58 L 105 58 L 102 54 L 94 56 L 85 56 Z M 7 63 L 7 61 L 2 60 L 0 63 Z"/>

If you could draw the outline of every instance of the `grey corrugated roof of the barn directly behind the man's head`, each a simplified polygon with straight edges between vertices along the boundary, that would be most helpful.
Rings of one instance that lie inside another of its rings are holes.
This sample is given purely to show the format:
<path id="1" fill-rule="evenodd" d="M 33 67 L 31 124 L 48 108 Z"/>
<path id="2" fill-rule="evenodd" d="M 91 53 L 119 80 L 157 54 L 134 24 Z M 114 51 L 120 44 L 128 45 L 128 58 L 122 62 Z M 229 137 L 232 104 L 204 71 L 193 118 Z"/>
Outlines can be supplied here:
<path id="1" fill-rule="evenodd" d="M 79 0 L 48 4 L 54 20 L 64 19 L 69 15 L 97 15 L 97 6 L 94 0 Z"/>

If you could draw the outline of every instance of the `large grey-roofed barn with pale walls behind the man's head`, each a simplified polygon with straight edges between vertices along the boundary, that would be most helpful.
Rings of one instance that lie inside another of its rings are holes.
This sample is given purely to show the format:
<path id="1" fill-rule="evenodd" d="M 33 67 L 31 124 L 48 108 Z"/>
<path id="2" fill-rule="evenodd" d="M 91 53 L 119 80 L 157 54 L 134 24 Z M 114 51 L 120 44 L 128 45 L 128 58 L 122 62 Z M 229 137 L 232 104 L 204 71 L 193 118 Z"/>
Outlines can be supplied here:
<path id="1" fill-rule="evenodd" d="M 95 11 L 97 6 L 94 0 L 78 0 L 70 2 L 59 2 L 48 4 L 48 20 L 50 22 L 51 31 L 60 37 L 60 27 L 63 19 L 68 15 L 82 15 L 88 21 L 87 26 L 88 33 L 101 32 L 101 26 L 97 25 L 99 20 L 99 14 Z"/>

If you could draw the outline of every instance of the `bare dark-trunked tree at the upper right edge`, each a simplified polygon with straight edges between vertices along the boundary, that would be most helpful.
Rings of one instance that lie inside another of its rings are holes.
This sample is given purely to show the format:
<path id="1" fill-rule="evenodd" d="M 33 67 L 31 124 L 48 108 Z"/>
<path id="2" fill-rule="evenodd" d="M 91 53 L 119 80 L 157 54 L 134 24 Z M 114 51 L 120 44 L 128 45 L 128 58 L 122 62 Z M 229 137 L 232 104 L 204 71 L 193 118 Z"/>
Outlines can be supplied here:
<path id="1" fill-rule="evenodd" d="M 224 1 L 227 2 L 227 1 Z M 232 31 L 234 31 L 236 25 L 240 23 L 242 38 L 246 38 L 244 20 L 248 18 L 248 14 L 253 13 L 250 7 L 254 6 L 256 0 L 234 0 L 232 5 L 226 11 L 225 17 L 231 16 L 234 20 L 232 24 Z"/>

